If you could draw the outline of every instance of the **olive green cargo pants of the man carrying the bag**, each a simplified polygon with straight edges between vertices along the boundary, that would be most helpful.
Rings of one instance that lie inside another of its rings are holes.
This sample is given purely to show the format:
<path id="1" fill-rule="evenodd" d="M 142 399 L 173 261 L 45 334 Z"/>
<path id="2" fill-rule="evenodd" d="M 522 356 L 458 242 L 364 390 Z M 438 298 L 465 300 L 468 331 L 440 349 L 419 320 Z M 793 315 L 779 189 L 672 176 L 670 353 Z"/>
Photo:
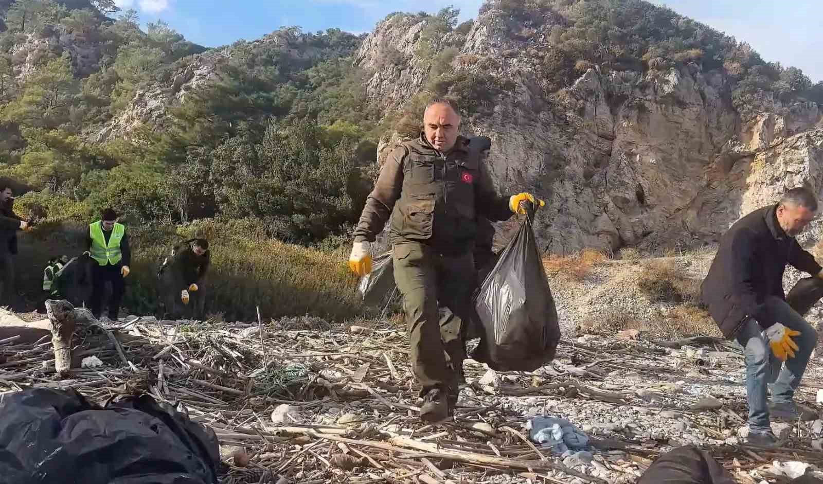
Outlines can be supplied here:
<path id="1" fill-rule="evenodd" d="M 444 256 L 415 242 L 394 244 L 394 280 L 402 295 L 411 346 L 412 373 L 423 393 L 435 386 L 458 390 L 466 349 L 463 333 L 471 321 L 477 285 L 471 251 Z M 441 324 L 438 305 L 454 314 Z"/>

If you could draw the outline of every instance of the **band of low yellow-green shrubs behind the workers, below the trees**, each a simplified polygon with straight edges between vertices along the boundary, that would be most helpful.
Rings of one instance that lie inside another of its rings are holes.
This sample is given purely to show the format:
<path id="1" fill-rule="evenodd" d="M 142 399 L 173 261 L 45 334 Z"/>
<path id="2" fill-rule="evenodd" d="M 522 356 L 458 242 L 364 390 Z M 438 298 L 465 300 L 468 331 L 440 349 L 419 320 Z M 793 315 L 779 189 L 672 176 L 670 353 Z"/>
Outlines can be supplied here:
<path id="1" fill-rule="evenodd" d="M 85 250 L 91 221 L 50 221 L 20 235 L 18 289 L 30 302 L 42 304 L 44 300 L 40 286 L 50 257 L 73 257 Z M 181 227 L 128 226 L 127 230 L 132 272 L 123 306 L 133 314 L 155 313 L 158 263 L 174 244 L 196 236 L 209 240 L 212 253 L 204 285 L 207 314 L 251 321 L 257 319 L 255 308 L 259 305 L 264 318 L 311 314 L 342 321 L 363 310 L 356 300 L 357 279 L 339 251 L 329 254 L 267 239 L 261 221 L 201 220 Z"/>

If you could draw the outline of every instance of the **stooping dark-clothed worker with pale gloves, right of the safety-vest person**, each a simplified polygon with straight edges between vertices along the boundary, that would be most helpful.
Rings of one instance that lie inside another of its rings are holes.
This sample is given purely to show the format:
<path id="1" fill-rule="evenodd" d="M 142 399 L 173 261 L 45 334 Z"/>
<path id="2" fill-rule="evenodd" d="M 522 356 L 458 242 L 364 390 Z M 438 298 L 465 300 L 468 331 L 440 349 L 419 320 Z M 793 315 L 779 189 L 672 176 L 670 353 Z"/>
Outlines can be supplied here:
<path id="1" fill-rule="evenodd" d="M 204 282 L 210 264 L 208 240 L 192 239 L 174 249 L 157 274 L 160 301 L 164 306 L 161 317 L 183 315 L 178 305 L 190 306 L 193 319 L 202 319 L 206 302 Z M 191 305 L 189 305 L 191 302 Z"/>

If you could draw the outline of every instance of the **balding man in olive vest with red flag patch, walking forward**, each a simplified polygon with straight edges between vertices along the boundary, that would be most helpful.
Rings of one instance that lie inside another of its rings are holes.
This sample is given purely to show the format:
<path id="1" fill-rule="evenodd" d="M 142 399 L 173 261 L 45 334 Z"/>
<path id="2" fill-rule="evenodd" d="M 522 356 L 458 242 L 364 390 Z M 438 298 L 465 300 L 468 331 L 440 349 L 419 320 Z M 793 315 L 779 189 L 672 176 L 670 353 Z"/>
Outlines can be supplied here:
<path id="1" fill-rule="evenodd" d="M 452 100 L 430 103 L 423 124 L 421 136 L 392 151 L 381 169 L 355 230 L 349 266 L 360 276 L 371 271 L 365 243 L 374 241 L 390 217 L 412 371 L 423 387 L 421 420 L 441 421 L 457 403 L 463 321 L 472 319 L 477 216 L 506 220 L 524 213 L 523 202 L 536 199 L 529 193 L 505 198 L 495 193 L 478 150 L 458 136 L 460 115 Z M 442 327 L 438 304 L 457 316 L 444 319 Z"/>

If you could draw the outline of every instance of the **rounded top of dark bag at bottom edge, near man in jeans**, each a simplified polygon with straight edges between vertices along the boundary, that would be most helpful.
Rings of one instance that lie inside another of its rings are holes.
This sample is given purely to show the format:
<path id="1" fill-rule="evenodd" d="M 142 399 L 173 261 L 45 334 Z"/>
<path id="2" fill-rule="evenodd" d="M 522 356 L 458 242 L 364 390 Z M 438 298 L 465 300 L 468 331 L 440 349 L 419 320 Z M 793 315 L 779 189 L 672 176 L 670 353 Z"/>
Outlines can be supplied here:
<path id="1" fill-rule="evenodd" d="M 734 484 L 734 478 L 708 452 L 694 445 L 661 455 L 637 484 Z"/>

